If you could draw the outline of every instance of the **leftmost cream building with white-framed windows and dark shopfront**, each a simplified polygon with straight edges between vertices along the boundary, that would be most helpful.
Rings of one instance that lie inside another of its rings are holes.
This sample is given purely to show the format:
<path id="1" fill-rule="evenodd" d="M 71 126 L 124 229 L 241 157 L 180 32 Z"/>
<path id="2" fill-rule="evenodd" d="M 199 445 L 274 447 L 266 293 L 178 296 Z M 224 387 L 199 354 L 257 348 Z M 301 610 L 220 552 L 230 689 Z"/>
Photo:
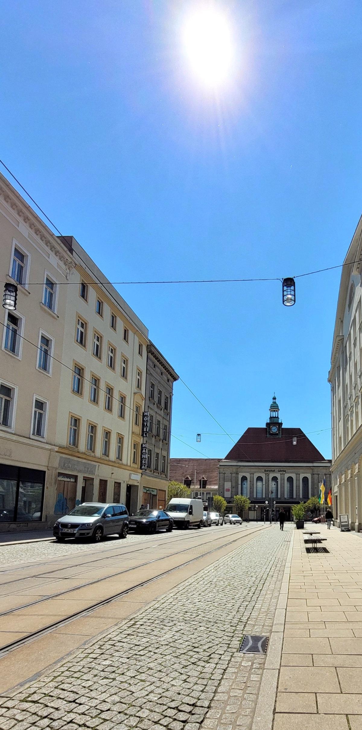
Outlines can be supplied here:
<path id="1" fill-rule="evenodd" d="M 53 515 L 62 285 L 74 260 L 1 174 L 0 261 L 1 281 L 18 285 L 16 311 L 0 310 L 0 530 L 28 529 Z"/>

